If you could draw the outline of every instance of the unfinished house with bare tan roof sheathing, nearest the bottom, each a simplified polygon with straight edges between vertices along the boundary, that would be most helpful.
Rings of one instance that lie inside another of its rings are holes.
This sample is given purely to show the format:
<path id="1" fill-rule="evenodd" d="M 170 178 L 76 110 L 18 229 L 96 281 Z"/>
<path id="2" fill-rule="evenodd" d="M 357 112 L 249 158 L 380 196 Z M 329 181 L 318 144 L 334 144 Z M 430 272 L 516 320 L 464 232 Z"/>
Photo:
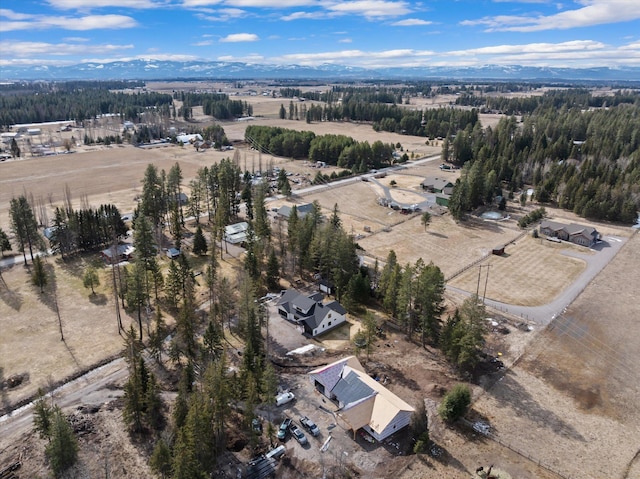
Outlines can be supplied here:
<path id="1" fill-rule="evenodd" d="M 337 417 L 353 431 L 382 441 L 411 421 L 414 409 L 371 378 L 355 356 L 309 373 L 314 387 L 338 406 Z"/>

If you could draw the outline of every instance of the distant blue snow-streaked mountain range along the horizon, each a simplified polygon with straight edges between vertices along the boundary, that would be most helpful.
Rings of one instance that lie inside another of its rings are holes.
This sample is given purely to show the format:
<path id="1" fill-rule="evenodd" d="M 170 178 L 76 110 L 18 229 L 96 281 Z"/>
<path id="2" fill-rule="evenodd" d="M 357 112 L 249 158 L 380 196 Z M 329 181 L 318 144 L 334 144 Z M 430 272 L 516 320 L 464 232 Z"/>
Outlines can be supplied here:
<path id="1" fill-rule="evenodd" d="M 605 81 L 640 84 L 639 67 L 555 68 L 484 65 L 478 67 L 379 68 L 375 70 L 324 64 L 267 65 L 241 62 L 131 60 L 65 66 L 3 66 L 0 80 L 196 80 L 196 79 L 315 79 L 315 80 L 529 80 Z"/>

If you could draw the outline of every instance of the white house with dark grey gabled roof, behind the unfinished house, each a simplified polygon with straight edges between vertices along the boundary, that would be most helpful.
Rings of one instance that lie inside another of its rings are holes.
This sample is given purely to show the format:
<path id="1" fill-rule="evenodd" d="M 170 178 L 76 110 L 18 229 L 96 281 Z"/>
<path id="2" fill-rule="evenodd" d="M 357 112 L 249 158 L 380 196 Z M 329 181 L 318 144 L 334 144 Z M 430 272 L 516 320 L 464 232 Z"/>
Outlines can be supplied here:
<path id="1" fill-rule="evenodd" d="M 316 337 L 347 321 L 347 311 L 337 301 L 322 302 L 322 293 L 309 296 L 288 289 L 277 303 L 278 313 L 284 319 L 301 324 L 304 332 Z"/>

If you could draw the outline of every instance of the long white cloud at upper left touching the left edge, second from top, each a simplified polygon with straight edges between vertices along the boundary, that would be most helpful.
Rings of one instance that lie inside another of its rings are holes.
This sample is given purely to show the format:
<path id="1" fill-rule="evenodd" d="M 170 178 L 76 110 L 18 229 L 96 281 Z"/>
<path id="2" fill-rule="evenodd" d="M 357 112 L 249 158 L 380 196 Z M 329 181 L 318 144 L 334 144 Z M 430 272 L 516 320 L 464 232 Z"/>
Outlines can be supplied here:
<path id="1" fill-rule="evenodd" d="M 0 17 L 14 21 L 0 21 L 0 32 L 16 30 L 45 30 L 61 28 L 64 30 L 99 30 L 133 28 L 138 23 L 125 15 L 87 15 L 84 17 L 64 17 L 48 15 L 30 15 L 0 10 Z"/>

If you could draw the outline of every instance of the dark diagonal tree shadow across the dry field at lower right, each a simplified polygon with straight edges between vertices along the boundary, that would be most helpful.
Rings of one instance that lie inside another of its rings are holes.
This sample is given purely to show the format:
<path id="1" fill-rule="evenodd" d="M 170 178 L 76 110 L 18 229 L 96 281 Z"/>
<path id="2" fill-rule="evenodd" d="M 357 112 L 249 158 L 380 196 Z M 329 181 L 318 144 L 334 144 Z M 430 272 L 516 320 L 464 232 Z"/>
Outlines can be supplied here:
<path id="1" fill-rule="evenodd" d="M 494 396 L 499 406 L 511 408 L 516 416 L 527 418 L 534 427 L 546 427 L 560 436 L 585 441 L 571 424 L 555 412 L 543 408 L 520 384 L 514 371 L 508 371 L 502 380 L 490 386 L 487 392 Z"/>

